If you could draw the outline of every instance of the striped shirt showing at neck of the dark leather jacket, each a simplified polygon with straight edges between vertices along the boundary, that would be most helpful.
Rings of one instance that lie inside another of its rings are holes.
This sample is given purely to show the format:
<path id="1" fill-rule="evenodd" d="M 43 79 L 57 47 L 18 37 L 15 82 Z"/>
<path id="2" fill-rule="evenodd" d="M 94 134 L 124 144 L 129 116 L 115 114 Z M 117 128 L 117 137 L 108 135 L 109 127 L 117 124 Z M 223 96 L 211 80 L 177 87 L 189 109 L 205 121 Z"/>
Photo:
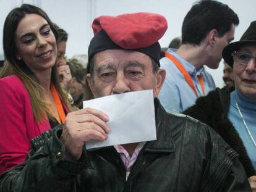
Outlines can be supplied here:
<path id="1" fill-rule="evenodd" d="M 134 165 L 134 162 L 136 161 L 139 152 L 141 151 L 145 143 L 146 142 L 138 143 L 132 156 L 129 156 L 129 153 L 121 145 L 114 145 L 114 148 L 120 154 L 122 162 L 124 163 L 124 167 L 126 167 L 126 180 L 130 174 L 130 169 L 132 168 L 132 165 Z"/>

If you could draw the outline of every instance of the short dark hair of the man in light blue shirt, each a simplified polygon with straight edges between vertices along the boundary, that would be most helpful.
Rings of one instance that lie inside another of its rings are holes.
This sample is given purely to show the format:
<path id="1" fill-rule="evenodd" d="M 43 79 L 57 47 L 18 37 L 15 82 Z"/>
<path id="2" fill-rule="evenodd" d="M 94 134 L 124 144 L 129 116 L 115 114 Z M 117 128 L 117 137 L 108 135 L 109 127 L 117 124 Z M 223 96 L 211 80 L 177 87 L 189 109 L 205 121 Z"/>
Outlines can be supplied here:
<path id="1" fill-rule="evenodd" d="M 208 32 L 216 29 L 223 36 L 231 25 L 238 25 L 237 14 L 226 4 L 213 0 L 202 0 L 187 12 L 182 24 L 182 44 L 199 45 Z"/>

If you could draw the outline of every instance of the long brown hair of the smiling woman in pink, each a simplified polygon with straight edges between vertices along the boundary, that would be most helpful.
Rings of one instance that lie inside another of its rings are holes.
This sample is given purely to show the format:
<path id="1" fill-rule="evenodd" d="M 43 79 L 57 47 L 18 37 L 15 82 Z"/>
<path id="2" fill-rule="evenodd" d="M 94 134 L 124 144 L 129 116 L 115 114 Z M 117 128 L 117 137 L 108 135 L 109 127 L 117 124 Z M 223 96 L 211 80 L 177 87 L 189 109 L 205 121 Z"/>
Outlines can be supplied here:
<path id="1" fill-rule="evenodd" d="M 30 96 L 34 118 L 36 122 L 40 122 L 46 118 L 46 115 L 51 117 L 49 104 L 43 97 L 44 88 L 40 85 L 32 70 L 30 70 L 22 60 L 18 60 L 16 57 L 17 48 L 15 45 L 15 33 L 20 20 L 22 20 L 27 14 L 37 14 L 43 17 L 51 27 L 56 40 L 58 39 L 58 31 L 54 28 L 48 15 L 46 15 L 46 13 L 40 8 L 29 4 L 22 4 L 22 6 L 11 10 L 4 22 L 3 47 L 6 62 L 1 70 L 0 78 L 9 75 L 17 75 L 17 77 L 22 80 Z M 58 90 L 61 95 L 62 101 L 64 101 L 67 108 L 70 110 L 71 107 L 67 99 L 67 94 L 62 90 L 59 84 L 56 65 L 54 65 L 51 70 L 51 83 L 56 87 L 56 90 Z"/>

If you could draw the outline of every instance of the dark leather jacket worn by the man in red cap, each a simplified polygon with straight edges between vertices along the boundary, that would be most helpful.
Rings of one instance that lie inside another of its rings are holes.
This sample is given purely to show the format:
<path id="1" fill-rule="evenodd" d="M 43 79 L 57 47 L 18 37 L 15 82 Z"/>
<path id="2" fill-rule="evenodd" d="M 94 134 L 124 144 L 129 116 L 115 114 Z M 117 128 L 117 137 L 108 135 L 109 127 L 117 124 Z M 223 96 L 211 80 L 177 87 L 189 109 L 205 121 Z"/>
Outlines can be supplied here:
<path id="1" fill-rule="evenodd" d="M 214 130 L 166 113 L 157 99 L 155 110 L 157 140 L 145 144 L 127 181 L 112 146 L 64 161 L 57 130 L 32 141 L 28 159 L 0 176 L 0 191 L 250 191 L 237 153 Z"/>

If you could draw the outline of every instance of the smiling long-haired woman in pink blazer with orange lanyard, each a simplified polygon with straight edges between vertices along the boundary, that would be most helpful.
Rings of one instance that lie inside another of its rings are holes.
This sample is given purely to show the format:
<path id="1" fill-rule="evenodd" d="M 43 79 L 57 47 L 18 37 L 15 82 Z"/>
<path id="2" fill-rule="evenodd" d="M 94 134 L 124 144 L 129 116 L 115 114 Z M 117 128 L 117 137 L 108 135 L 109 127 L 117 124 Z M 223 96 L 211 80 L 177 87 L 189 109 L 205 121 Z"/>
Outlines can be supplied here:
<path id="1" fill-rule="evenodd" d="M 67 97 L 56 73 L 58 32 L 46 13 L 23 4 L 4 23 L 0 74 L 0 173 L 24 161 L 30 140 L 64 123 Z"/>

